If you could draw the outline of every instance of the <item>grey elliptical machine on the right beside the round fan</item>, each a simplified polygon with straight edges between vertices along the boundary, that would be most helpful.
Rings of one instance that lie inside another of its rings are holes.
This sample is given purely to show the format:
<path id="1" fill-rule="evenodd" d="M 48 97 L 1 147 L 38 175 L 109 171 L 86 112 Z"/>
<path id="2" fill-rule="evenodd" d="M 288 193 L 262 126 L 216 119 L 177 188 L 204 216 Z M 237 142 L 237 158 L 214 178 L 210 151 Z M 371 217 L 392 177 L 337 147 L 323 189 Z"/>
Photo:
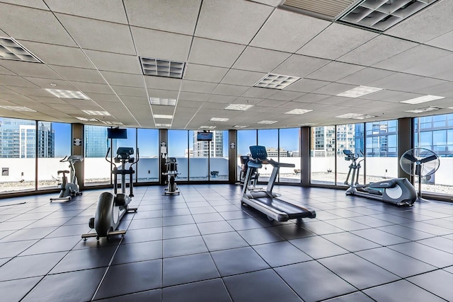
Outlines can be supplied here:
<path id="1" fill-rule="evenodd" d="M 349 189 L 346 190 L 347 195 L 357 195 L 382 202 L 390 202 L 398 206 L 413 205 L 417 199 L 417 192 L 407 178 L 394 178 L 372 182 L 368 185 L 359 185 L 360 163 L 363 159 L 357 163 L 358 154 L 352 153 L 350 150 L 343 150 L 343 153 L 345 153 L 345 161 L 352 161 L 349 165 L 348 177 L 344 182 L 345 185 L 349 186 Z M 351 171 L 351 182 L 348 183 Z"/>

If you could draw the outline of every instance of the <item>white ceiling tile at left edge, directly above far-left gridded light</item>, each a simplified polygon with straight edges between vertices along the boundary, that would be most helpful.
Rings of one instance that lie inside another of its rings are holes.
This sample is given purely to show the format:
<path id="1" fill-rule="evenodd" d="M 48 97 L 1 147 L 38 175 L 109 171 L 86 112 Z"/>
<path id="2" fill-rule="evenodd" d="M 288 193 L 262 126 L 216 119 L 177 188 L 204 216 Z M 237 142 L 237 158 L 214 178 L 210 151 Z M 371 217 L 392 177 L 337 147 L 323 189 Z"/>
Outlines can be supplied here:
<path id="1" fill-rule="evenodd" d="M 76 46 L 50 11 L 0 3 L 0 28 L 17 40 Z"/>

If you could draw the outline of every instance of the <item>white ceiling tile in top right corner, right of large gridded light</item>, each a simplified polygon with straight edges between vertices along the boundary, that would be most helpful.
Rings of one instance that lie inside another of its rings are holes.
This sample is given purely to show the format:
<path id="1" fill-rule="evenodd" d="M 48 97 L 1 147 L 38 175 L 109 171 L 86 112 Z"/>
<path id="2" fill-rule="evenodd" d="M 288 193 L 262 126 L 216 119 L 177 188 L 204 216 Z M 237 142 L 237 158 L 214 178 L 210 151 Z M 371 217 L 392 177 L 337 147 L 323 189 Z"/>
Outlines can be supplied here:
<path id="1" fill-rule="evenodd" d="M 452 16 L 451 0 L 436 1 L 423 11 L 386 30 L 386 34 L 422 43 L 427 42 L 452 30 Z"/>

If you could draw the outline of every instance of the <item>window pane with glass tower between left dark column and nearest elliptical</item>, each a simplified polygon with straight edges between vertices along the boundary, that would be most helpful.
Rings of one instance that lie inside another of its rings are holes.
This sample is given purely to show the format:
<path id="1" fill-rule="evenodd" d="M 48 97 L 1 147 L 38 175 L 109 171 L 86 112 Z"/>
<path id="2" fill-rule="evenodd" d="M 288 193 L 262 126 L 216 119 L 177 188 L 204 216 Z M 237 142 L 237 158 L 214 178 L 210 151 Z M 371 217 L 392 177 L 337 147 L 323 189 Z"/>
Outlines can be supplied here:
<path id="1" fill-rule="evenodd" d="M 110 146 L 107 128 L 103 126 L 84 126 L 85 158 L 84 185 L 108 185 L 111 179 L 110 163 L 105 161 L 105 154 Z M 116 153 L 116 145 L 112 146 Z M 80 180 L 79 180 L 80 181 Z"/>

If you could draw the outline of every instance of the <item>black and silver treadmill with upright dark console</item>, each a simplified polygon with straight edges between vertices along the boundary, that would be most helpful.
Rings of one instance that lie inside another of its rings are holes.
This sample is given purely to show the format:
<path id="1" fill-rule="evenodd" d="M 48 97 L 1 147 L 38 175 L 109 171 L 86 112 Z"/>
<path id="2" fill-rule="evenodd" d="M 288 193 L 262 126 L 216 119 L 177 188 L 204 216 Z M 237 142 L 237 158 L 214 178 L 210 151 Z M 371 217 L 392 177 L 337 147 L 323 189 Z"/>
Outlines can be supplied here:
<path id="1" fill-rule="evenodd" d="M 246 178 L 242 188 L 241 204 L 257 209 L 266 214 L 269 220 L 288 221 L 289 219 L 315 218 L 316 212 L 307 209 L 302 204 L 294 204 L 294 201 L 281 197 L 280 194 L 272 192 L 275 180 L 280 167 L 294 168 L 293 163 L 279 163 L 268 159 L 268 153 L 265 146 L 250 146 L 253 160 L 248 161 Z M 263 164 L 273 165 L 273 170 L 269 178 L 268 186 L 265 190 L 248 190 L 251 182 L 251 175 Z"/>

